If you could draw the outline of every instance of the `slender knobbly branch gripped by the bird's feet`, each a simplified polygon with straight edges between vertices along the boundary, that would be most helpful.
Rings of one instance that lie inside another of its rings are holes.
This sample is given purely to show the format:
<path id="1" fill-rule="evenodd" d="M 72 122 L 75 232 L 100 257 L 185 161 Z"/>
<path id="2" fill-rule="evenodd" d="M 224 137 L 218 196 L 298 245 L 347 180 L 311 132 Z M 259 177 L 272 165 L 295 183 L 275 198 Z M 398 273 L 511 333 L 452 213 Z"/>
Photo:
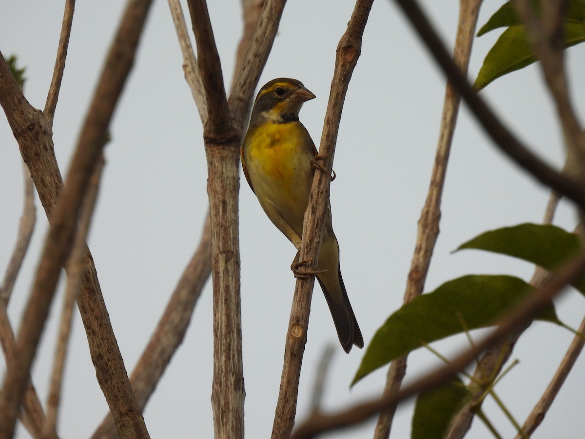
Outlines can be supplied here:
<path id="1" fill-rule="evenodd" d="M 343 102 L 353 69 L 362 50 L 362 35 L 366 27 L 373 0 L 357 0 L 347 30 L 339 40 L 335 57 L 335 69 L 331 81 L 331 92 L 325 114 L 319 156 L 325 157 L 323 165 L 331 172 L 335 143 Z M 310 260 L 307 269 L 316 270 L 319 260 L 319 247 L 325 224 L 326 207 L 329 200 L 330 173 L 315 172 L 311 195 L 305 212 L 302 228 L 302 242 L 299 260 Z M 283 372 L 280 379 L 280 392 L 272 427 L 272 439 L 287 437 L 294 426 L 297 411 L 298 384 L 301 374 L 302 356 L 307 342 L 309 311 L 315 276 L 298 278 L 295 284 L 287 339 L 284 347 Z"/>

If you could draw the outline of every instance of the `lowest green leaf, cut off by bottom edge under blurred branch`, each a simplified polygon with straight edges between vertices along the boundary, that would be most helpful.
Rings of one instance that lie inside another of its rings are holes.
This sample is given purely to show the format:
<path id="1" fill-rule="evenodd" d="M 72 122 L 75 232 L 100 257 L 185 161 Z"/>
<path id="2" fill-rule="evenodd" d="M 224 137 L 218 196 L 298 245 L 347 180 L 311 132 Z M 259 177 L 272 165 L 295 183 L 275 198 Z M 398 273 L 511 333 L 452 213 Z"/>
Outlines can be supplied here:
<path id="1" fill-rule="evenodd" d="M 467 399 L 469 393 L 457 376 L 436 389 L 419 394 L 412 416 L 411 439 L 445 437 L 453 416 Z"/>

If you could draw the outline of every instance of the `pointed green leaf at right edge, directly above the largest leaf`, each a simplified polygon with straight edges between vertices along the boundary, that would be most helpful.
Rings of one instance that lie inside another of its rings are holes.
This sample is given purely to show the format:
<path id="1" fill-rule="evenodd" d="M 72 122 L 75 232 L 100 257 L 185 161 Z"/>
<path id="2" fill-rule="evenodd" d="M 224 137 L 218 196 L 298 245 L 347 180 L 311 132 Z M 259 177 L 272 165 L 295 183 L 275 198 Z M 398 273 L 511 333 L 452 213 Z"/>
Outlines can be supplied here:
<path id="1" fill-rule="evenodd" d="M 524 259 L 549 271 L 577 256 L 581 249 L 577 235 L 548 224 L 519 224 L 485 232 L 459 246 L 501 253 Z M 585 277 L 573 284 L 585 294 Z"/>

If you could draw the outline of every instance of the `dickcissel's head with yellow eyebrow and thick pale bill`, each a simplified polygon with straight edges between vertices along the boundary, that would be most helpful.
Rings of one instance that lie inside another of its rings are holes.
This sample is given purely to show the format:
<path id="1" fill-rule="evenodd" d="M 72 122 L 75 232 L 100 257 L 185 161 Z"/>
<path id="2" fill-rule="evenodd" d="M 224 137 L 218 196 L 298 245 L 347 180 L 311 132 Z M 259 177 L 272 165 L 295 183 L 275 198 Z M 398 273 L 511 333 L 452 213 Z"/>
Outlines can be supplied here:
<path id="1" fill-rule="evenodd" d="M 264 85 L 256 96 L 252 120 L 264 119 L 276 123 L 298 121 L 302 103 L 314 99 L 301 81 L 276 78 Z"/>

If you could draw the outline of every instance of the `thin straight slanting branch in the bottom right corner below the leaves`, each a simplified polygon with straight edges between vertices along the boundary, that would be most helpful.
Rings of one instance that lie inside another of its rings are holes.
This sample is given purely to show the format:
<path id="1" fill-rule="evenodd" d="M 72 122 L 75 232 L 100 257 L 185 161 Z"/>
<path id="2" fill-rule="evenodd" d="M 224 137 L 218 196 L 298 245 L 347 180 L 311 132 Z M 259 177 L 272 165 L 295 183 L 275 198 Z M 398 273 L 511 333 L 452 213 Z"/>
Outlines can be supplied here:
<path id="1" fill-rule="evenodd" d="M 577 330 L 581 335 L 575 335 L 569 349 L 567 350 L 565 356 L 563 357 L 563 361 L 560 363 L 559 368 L 557 369 L 555 376 L 550 381 L 548 387 L 546 387 L 545 393 L 543 393 L 541 399 L 536 404 L 534 409 L 532 409 L 531 413 L 526 419 L 524 425 L 522 426 L 522 431 L 526 436 L 531 436 L 534 433 L 534 430 L 542 423 L 546 412 L 552 405 L 553 401 L 555 400 L 556 395 L 559 393 L 560 387 L 565 383 L 565 379 L 569 375 L 569 372 L 573 368 L 577 358 L 579 358 L 579 354 L 581 354 L 581 350 L 583 350 L 583 345 L 585 345 L 585 340 L 583 339 L 583 335 L 585 335 L 585 319 L 581 321 L 581 325 Z M 516 435 L 516 439 L 522 439 L 522 435 Z"/>

